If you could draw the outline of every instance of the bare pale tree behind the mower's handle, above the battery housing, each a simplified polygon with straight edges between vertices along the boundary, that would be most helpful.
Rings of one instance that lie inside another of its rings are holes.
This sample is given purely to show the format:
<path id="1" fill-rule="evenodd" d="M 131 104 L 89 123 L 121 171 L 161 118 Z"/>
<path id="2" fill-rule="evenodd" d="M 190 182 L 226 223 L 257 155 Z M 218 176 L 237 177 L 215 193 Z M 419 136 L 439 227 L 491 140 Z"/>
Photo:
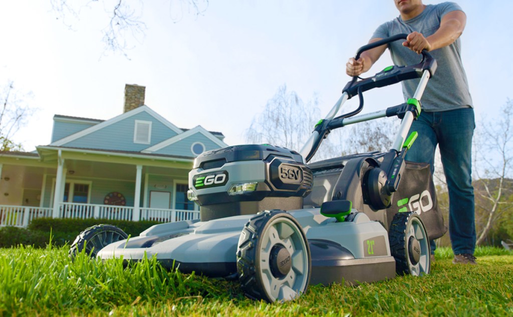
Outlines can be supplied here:
<path id="1" fill-rule="evenodd" d="M 317 96 L 304 103 L 284 84 L 267 101 L 264 111 L 255 117 L 246 131 L 250 143 L 270 143 L 300 151 L 315 123 L 322 118 Z M 399 120 L 372 120 L 332 130 L 323 140 L 312 161 L 347 154 L 390 149 L 396 136 Z"/>

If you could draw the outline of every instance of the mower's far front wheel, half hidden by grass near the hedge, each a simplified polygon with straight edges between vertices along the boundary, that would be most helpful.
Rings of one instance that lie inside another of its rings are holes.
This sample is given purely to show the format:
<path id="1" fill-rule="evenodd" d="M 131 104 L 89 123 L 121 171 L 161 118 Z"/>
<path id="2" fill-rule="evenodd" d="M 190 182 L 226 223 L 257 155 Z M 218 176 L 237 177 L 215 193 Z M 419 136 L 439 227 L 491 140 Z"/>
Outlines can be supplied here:
<path id="1" fill-rule="evenodd" d="M 75 241 L 70 246 L 69 256 L 74 257 L 85 248 L 86 254 L 94 259 L 98 251 L 108 244 L 125 239 L 128 239 L 128 235 L 116 226 L 110 224 L 94 225 L 76 236 Z"/>

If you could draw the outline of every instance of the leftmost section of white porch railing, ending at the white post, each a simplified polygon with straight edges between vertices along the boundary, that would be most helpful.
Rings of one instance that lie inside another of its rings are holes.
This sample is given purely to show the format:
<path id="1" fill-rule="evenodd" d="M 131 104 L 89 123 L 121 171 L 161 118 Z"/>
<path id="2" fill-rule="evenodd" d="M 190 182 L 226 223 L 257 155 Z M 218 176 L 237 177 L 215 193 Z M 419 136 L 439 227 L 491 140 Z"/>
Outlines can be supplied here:
<path id="1" fill-rule="evenodd" d="M 26 227 L 42 217 L 52 217 L 52 208 L 0 205 L 0 226 Z"/>

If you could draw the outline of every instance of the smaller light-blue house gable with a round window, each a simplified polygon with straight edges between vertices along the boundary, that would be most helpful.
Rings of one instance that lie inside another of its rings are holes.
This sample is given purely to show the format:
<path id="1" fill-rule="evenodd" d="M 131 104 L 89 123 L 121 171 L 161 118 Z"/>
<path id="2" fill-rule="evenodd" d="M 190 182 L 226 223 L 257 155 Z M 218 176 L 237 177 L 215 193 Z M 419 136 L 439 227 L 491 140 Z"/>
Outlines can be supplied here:
<path id="1" fill-rule="evenodd" d="M 210 151 L 226 146 L 228 146 L 226 143 L 198 125 L 194 129 L 150 146 L 142 152 L 196 157 L 200 154 L 198 149 L 203 148 L 203 151 Z"/>

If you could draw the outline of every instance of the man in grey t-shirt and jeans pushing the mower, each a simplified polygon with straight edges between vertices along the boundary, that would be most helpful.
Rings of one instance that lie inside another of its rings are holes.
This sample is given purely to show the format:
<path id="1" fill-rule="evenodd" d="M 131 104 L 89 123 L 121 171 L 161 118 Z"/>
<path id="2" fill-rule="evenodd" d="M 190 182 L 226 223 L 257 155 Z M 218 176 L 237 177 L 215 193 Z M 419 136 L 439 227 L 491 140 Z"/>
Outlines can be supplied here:
<path id="1" fill-rule="evenodd" d="M 476 264 L 474 194 L 471 184 L 471 145 L 475 128 L 472 99 L 461 62 L 460 35 L 466 15 L 455 3 L 424 5 L 422 0 L 394 0 L 400 16 L 374 32 L 369 43 L 406 33 L 406 41 L 388 45 L 394 64 L 411 65 L 420 61 L 419 53 L 427 50 L 438 62 L 438 69 L 427 84 L 422 97 L 422 113 L 411 131 L 419 137 L 406 154 L 406 159 L 431 164 L 437 145 L 440 149 L 449 192 L 449 235 L 455 264 Z M 405 49 L 404 47 L 408 48 Z M 346 65 L 349 76 L 359 76 L 385 52 L 381 46 L 350 58 Z M 405 98 L 413 96 L 419 80 L 403 81 Z M 431 241 L 434 252 L 435 243 Z"/>

